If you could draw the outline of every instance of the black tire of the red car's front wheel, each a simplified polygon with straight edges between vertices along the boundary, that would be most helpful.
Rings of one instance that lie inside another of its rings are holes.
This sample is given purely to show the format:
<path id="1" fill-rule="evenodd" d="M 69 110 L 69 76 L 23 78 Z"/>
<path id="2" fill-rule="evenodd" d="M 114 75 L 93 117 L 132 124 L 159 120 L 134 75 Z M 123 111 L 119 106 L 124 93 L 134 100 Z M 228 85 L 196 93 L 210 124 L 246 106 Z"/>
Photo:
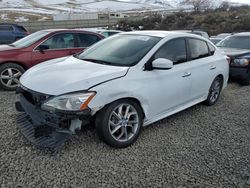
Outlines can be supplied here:
<path id="1" fill-rule="evenodd" d="M 11 70 L 13 76 L 10 76 L 9 71 Z M 0 88 L 8 91 L 14 91 L 18 85 L 19 78 L 25 72 L 24 68 L 15 63 L 5 63 L 0 66 Z M 16 75 L 16 76 L 15 76 Z M 6 78 L 9 77 L 9 78 Z M 8 81 L 11 81 L 11 84 L 8 85 Z"/>

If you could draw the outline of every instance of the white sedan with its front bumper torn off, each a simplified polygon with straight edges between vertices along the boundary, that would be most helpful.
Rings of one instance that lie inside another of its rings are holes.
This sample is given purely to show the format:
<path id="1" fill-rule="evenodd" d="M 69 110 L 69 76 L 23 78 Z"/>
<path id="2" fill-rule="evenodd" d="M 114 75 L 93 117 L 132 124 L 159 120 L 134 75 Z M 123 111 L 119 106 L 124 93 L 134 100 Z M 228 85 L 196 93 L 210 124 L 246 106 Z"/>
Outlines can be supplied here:
<path id="1" fill-rule="evenodd" d="M 200 36 L 117 34 L 25 72 L 17 89 L 18 126 L 34 144 L 56 148 L 95 121 L 104 142 L 127 147 L 142 126 L 203 101 L 215 104 L 228 68 L 226 56 Z"/>

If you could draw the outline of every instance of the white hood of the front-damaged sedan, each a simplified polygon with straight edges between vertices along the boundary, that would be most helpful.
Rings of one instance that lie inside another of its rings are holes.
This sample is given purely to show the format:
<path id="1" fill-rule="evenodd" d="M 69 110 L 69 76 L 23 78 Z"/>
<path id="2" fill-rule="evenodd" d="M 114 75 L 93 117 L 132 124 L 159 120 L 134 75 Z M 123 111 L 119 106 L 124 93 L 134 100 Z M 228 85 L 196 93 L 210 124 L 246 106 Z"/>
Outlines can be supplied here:
<path id="1" fill-rule="evenodd" d="M 39 93 L 61 95 L 88 90 L 96 84 L 125 76 L 128 69 L 91 63 L 71 56 L 32 67 L 22 75 L 20 83 Z"/>

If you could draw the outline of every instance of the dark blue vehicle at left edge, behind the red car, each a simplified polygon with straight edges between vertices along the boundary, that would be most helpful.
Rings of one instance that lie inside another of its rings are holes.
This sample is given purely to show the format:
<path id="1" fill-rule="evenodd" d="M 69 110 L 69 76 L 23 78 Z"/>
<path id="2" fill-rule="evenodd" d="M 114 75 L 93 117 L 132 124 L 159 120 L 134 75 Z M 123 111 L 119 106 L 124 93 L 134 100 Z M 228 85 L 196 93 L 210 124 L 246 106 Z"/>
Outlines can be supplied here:
<path id="1" fill-rule="evenodd" d="M 0 24 L 0 44 L 10 44 L 25 36 L 29 32 L 21 25 L 17 24 Z"/>

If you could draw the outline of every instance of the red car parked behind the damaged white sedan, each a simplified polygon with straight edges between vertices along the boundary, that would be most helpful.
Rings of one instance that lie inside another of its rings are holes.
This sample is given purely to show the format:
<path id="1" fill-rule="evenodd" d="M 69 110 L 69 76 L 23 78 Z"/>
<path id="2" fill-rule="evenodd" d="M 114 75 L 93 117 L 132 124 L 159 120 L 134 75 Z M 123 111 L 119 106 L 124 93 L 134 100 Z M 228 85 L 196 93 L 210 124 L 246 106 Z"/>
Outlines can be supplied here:
<path id="1" fill-rule="evenodd" d="M 15 90 L 25 70 L 46 60 L 73 55 L 104 37 L 84 30 L 37 31 L 9 45 L 0 45 L 0 88 Z"/>

